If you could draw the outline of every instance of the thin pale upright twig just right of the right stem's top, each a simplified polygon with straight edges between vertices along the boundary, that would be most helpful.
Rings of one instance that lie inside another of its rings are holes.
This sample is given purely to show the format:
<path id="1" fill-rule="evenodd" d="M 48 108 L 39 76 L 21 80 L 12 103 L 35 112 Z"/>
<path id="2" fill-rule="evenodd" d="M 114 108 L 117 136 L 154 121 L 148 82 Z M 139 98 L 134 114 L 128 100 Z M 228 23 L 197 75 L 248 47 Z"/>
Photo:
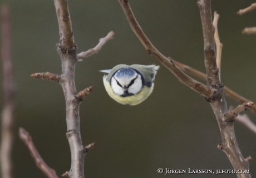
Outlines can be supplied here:
<path id="1" fill-rule="evenodd" d="M 214 39 L 216 44 L 216 64 L 219 68 L 219 75 L 220 75 L 220 64 L 221 64 L 221 50 L 222 50 L 222 43 L 220 43 L 219 33 L 218 33 L 218 19 L 219 14 L 215 11 L 214 18 L 213 18 L 213 26 L 214 26 Z"/>

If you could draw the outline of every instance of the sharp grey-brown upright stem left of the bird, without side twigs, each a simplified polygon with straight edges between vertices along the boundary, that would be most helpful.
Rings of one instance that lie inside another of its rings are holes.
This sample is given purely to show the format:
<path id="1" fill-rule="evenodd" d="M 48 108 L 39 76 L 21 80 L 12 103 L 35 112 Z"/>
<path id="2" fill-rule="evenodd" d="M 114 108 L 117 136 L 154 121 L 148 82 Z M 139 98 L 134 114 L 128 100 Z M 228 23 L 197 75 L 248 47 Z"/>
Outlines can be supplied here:
<path id="1" fill-rule="evenodd" d="M 84 177 L 83 166 L 85 147 L 82 145 L 80 133 L 79 105 L 81 100 L 75 97 L 75 65 L 77 62 L 77 48 L 73 40 L 70 14 L 67 0 L 55 0 L 55 8 L 60 29 L 60 43 L 57 51 L 61 57 L 62 74 L 60 84 L 66 101 L 67 139 L 71 151 L 71 169 L 68 177 Z"/>

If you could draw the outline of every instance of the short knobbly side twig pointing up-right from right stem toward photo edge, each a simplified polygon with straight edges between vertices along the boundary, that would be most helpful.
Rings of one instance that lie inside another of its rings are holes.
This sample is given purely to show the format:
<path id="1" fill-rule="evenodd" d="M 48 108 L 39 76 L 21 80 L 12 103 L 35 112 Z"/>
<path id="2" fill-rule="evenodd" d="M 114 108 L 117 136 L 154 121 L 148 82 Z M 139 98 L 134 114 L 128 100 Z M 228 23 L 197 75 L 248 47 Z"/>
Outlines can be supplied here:
<path id="1" fill-rule="evenodd" d="M 234 121 L 234 118 L 237 117 L 239 112 L 246 111 L 248 107 L 252 107 L 254 105 L 253 102 L 245 102 L 243 105 L 239 105 L 234 110 L 229 111 L 223 116 L 223 121 L 224 122 L 232 122 Z"/>

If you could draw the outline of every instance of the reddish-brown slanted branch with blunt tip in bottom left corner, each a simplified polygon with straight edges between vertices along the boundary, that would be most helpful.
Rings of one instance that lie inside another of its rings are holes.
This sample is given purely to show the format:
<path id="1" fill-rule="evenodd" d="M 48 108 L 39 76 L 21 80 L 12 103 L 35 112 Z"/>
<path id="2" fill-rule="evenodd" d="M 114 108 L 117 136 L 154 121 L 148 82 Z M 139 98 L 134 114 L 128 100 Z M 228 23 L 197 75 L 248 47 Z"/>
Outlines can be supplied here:
<path id="1" fill-rule="evenodd" d="M 58 176 L 56 175 L 55 170 L 51 169 L 51 167 L 49 167 L 45 161 L 43 161 L 35 145 L 33 144 L 31 136 L 26 130 L 24 130 L 24 128 L 19 128 L 19 137 L 24 144 L 26 144 L 31 156 L 36 162 L 37 167 L 41 169 L 48 178 L 57 178 Z"/>

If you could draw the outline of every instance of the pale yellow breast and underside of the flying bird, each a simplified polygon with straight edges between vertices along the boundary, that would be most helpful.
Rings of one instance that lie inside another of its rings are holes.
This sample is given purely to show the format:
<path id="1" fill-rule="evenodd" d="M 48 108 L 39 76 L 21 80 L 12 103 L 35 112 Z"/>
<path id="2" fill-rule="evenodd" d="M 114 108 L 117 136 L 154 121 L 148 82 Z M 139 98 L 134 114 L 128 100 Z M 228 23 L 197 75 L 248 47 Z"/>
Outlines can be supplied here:
<path id="1" fill-rule="evenodd" d="M 142 90 L 137 93 L 137 95 L 121 97 L 113 92 L 110 83 L 106 80 L 106 76 L 103 77 L 103 82 L 109 96 L 123 105 L 137 105 L 141 103 L 142 101 L 146 100 L 147 97 L 149 97 L 154 88 L 154 83 L 152 83 L 152 86 L 150 88 L 146 86 L 142 87 Z"/>

